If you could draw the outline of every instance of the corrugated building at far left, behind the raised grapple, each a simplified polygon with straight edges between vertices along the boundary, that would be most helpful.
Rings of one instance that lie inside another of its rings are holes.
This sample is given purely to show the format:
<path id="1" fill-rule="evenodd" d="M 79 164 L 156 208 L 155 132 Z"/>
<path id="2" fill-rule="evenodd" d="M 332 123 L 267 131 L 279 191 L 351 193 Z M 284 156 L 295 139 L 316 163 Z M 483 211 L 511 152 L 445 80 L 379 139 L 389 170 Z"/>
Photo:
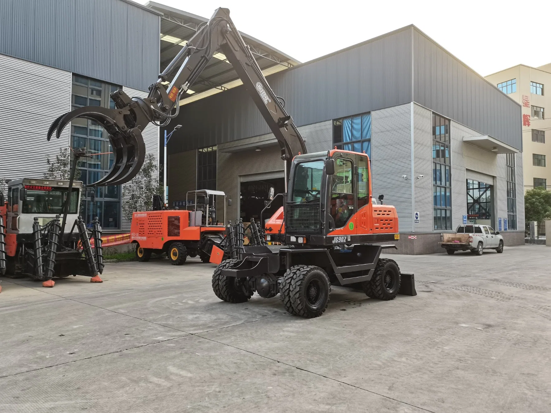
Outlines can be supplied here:
<path id="1" fill-rule="evenodd" d="M 46 142 L 54 119 L 74 107 L 110 105 L 122 86 L 130 96 L 147 95 L 159 73 L 160 14 L 126 0 L 4 0 L 0 2 L 0 182 L 43 177 L 46 155 L 86 147 L 109 151 L 105 131 L 78 119 L 59 140 Z M 158 159 L 159 128 L 143 132 Z M 82 180 L 109 170 L 108 155 L 88 160 Z M 0 187 L 2 189 L 2 187 Z M 129 229 L 120 187 L 99 188 L 95 204 L 84 200 L 87 221 L 99 215 L 105 231 Z"/>

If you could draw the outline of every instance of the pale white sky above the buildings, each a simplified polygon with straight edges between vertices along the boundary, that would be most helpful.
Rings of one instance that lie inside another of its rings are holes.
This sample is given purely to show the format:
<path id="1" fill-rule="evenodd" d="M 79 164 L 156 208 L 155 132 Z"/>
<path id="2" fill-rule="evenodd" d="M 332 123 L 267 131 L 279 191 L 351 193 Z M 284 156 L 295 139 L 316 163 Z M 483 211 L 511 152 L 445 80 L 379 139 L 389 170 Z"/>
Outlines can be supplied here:
<path id="1" fill-rule="evenodd" d="M 227 7 L 237 29 L 301 62 L 413 23 L 482 75 L 551 63 L 549 0 L 157 2 L 206 18 Z"/>

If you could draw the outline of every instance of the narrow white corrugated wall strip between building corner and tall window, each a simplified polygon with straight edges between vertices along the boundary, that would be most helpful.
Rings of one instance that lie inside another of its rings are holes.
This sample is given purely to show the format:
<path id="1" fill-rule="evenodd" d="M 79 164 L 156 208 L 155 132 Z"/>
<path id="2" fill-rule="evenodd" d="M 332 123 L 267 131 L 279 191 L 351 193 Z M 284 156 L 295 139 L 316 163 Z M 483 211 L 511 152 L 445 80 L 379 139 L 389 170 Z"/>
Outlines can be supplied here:
<path id="1" fill-rule="evenodd" d="M 413 105 L 413 209 L 419 222 L 413 222 L 414 232 L 433 232 L 433 114 Z"/>

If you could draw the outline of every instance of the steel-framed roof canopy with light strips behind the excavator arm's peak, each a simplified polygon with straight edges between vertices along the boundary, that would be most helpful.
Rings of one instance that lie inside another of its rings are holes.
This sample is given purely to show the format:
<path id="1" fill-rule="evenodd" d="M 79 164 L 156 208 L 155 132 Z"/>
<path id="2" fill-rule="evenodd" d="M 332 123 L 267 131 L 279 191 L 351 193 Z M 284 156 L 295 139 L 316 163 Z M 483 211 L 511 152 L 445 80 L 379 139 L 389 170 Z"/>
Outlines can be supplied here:
<path id="1" fill-rule="evenodd" d="M 162 72 L 186 42 L 195 35 L 199 25 L 208 19 L 151 1 L 145 3 L 145 7 L 161 13 L 160 70 Z M 251 48 L 264 75 L 276 73 L 300 63 L 260 40 L 243 32 L 240 33 Z M 199 78 L 191 85 L 191 91 L 188 91 L 181 104 L 187 104 L 240 84 L 242 83 L 239 76 L 226 57 L 220 52 L 215 53 Z"/>

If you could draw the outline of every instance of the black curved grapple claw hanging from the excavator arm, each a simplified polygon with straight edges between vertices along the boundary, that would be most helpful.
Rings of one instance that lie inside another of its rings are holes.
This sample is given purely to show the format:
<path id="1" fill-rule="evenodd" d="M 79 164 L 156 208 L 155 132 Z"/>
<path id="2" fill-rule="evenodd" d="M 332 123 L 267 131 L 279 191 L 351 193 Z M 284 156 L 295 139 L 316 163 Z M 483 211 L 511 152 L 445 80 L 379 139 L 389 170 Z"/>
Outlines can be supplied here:
<path id="1" fill-rule="evenodd" d="M 55 133 L 59 138 L 63 129 L 75 118 L 86 118 L 98 122 L 109 133 L 109 141 L 114 154 L 111 170 L 99 181 L 88 186 L 98 187 L 120 185 L 134 178 L 145 160 L 145 143 L 142 132 L 129 127 L 126 121 L 132 121 L 131 112 L 125 109 L 110 109 L 101 106 L 83 106 L 58 117 L 48 129 L 47 139 Z M 93 154 L 91 154 L 93 155 Z"/>

